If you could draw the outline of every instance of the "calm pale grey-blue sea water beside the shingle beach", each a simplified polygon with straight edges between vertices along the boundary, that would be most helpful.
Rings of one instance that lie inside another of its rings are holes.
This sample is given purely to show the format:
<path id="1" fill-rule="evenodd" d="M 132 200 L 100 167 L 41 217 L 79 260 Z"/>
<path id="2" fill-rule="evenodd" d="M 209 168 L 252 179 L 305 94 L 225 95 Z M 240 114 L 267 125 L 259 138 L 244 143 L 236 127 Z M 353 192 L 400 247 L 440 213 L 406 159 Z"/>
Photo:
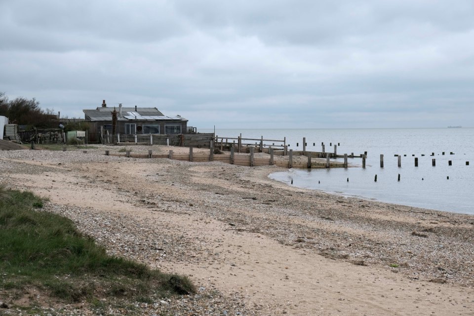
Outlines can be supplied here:
<path id="1" fill-rule="evenodd" d="M 216 129 L 219 137 L 237 137 L 240 133 L 243 138 L 286 137 L 286 143 L 293 150 L 302 150 L 303 137 L 306 137 L 307 151 L 321 151 L 323 142 L 326 152 L 333 152 L 334 144 L 338 143 L 338 154 L 367 152 L 365 169 L 361 168 L 361 158 L 349 158 L 349 164 L 358 167 L 290 169 L 270 175 L 288 185 L 293 179 L 292 185 L 301 188 L 474 214 L 474 128 Z M 299 143 L 298 147 L 296 143 Z M 330 143 L 333 146 L 330 147 Z M 435 153 L 434 157 L 432 153 Z M 380 154 L 384 155 L 384 168 L 380 167 Z M 395 154 L 402 156 L 401 167 L 397 165 Z M 414 166 L 415 157 L 418 167 Z M 436 159 L 435 167 L 432 158 Z M 451 166 L 448 160 L 452 160 Z M 466 161 L 470 165 L 466 165 Z"/>

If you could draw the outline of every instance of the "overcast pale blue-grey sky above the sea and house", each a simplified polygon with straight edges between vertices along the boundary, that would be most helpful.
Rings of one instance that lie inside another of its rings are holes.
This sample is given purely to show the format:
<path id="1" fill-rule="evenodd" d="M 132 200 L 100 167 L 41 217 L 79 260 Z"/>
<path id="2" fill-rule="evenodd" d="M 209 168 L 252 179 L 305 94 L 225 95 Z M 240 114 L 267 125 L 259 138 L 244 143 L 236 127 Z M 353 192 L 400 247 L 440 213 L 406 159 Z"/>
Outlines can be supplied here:
<path id="1" fill-rule="evenodd" d="M 473 0 L 0 0 L 0 91 L 197 128 L 474 126 Z"/>

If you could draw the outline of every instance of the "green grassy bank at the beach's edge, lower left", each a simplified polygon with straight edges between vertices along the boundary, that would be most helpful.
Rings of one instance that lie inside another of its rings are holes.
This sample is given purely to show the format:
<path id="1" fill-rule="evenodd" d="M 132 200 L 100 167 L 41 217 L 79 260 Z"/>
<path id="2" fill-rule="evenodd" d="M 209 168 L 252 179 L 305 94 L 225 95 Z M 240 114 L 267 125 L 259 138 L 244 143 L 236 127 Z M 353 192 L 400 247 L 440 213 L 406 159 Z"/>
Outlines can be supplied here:
<path id="1" fill-rule="evenodd" d="M 0 187 L 0 195 L 5 192 Z M 0 293 L 10 297 L 0 294 L 1 301 L 25 298 L 32 287 L 59 303 L 91 305 L 104 298 L 112 305 L 196 291 L 185 276 L 107 255 L 71 220 L 41 211 L 43 200 L 33 193 L 6 194 L 8 202 L 0 199 Z"/>

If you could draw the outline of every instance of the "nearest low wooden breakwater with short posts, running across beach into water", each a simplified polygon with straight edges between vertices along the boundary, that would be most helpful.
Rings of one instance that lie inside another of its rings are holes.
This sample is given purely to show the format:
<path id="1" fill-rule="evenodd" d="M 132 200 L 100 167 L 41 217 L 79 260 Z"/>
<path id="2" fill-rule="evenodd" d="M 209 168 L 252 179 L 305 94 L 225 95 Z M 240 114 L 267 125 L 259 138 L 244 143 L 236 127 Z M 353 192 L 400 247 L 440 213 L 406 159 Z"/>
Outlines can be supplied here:
<path id="1" fill-rule="evenodd" d="M 344 163 L 338 161 L 330 161 L 329 156 L 326 159 L 313 160 L 311 156 L 307 156 L 306 159 L 293 159 L 293 151 L 290 150 L 288 157 L 286 158 L 275 158 L 275 151 L 270 149 L 268 157 L 258 156 L 255 157 L 254 148 L 249 148 L 250 153 L 236 153 L 231 147 L 229 153 L 216 154 L 214 148 L 210 148 L 208 154 L 194 153 L 193 147 L 189 148 L 189 154 L 175 154 L 173 150 L 170 150 L 167 154 L 153 154 L 152 150 L 148 151 L 148 154 L 135 154 L 131 151 L 125 151 L 124 153 L 110 153 L 105 151 L 106 156 L 116 156 L 125 158 L 168 158 L 181 161 L 191 162 L 207 162 L 207 161 L 221 161 L 224 163 L 235 164 L 239 166 L 267 166 L 276 165 L 285 168 L 331 168 L 331 167 L 347 167 L 347 160 Z M 279 155 L 282 156 L 282 155 Z M 298 156 L 298 155 L 297 155 Z"/>

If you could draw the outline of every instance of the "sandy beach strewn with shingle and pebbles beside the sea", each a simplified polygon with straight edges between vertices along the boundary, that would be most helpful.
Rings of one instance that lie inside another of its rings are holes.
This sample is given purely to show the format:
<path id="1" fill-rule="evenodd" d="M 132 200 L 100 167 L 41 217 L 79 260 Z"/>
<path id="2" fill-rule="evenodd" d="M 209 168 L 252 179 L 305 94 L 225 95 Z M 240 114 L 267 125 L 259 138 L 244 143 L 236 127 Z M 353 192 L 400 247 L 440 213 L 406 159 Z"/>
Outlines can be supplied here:
<path id="1" fill-rule="evenodd" d="M 45 210 L 109 253 L 188 275 L 199 289 L 143 314 L 474 313 L 473 215 L 291 187 L 268 178 L 285 170 L 276 166 L 114 157 L 105 150 L 121 147 L 94 147 L 0 152 L 0 181 L 48 197 Z"/>

